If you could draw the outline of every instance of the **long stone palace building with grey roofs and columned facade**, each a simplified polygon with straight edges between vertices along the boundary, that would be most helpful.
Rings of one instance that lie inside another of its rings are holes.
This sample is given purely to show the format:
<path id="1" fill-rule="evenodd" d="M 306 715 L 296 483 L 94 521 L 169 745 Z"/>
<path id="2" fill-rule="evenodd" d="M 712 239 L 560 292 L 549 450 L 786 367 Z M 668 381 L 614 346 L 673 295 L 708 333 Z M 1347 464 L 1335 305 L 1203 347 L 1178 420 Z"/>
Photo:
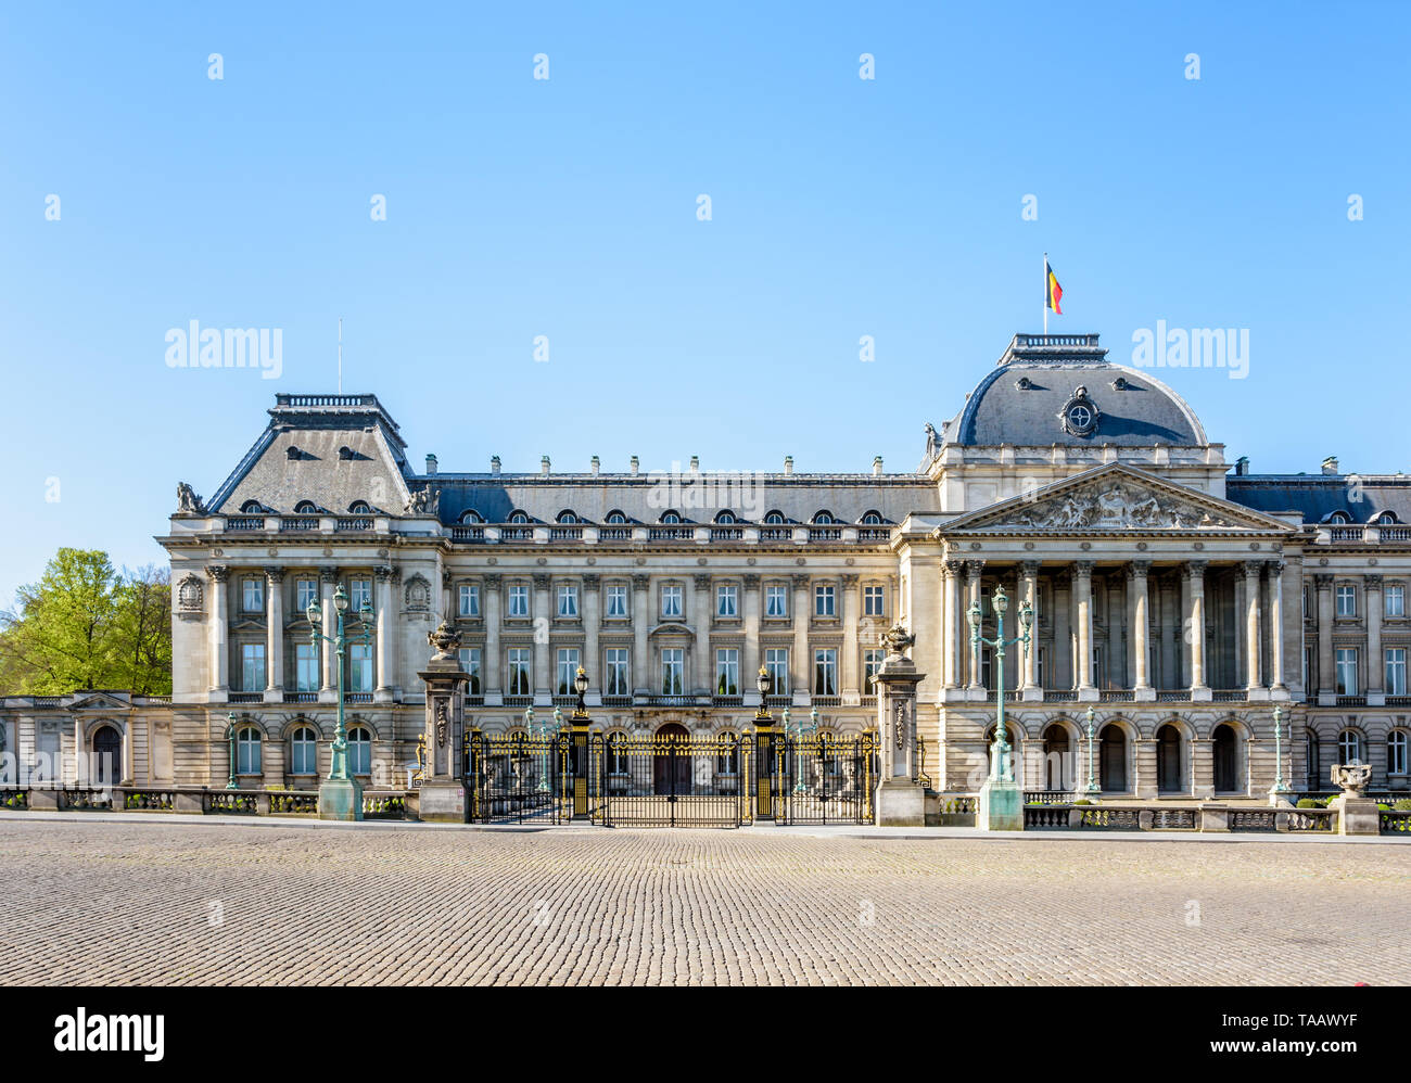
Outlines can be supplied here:
<path id="1" fill-rule="evenodd" d="M 920 429 L 920 420 L 917 426 Z M 1411 479 L 1267 475 L 1226 461 L 1150 369 L 1095 334 L 1019 334 L 919 465 L 854 474 L 418 468 L 374 395 L 277 395 L 234 471 L 179 489 L 171 699 L 116 691 L 0 701 L 21 764 L 241 787 L 329 771 L 336 660 L 310 640 L 341 588 L 353 770 L 406 785 L 425 726 L 428 632 L 460 637 L 468 723 L 487 733 L 576 702 L 602 733 L 739 733 L 770 706 L 823 732 L 876 726 L 880 636 L 914 635 L 923 773 L 986 773 L 1003 588 L 1034 620 L 1003 656 L 1015 767 L 1071 791 L 1089 752 L 1105 797 L 1267 801 L 1276 774 L 1326 791 L 1335 763 L 1411 787 Z M 1013 622 L 1015 609 L 1010 609 Z M 1017 628 L 1006 628 L 1016 635 Z M 814 714 L 816 712 L 816 714 Z M 1278 718 L 1276 760 L 1276 716 Z M 1089 738 L 1088 728 L 1092 726 Z"/>

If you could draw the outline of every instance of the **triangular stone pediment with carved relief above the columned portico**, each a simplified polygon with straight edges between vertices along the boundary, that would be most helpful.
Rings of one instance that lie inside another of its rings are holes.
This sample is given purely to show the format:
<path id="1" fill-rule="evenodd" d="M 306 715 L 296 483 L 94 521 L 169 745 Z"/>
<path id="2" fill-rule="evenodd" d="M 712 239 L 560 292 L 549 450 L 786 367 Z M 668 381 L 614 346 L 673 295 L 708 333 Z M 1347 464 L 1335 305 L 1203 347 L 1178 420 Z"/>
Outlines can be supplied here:
<path id="1" fill-rule="evenodd" d="M 982 508 L 940 527 L 954 532 L 1250 530 L 1294 527 L 1230 501 L 1109 463 L 1033 492 Z"/>

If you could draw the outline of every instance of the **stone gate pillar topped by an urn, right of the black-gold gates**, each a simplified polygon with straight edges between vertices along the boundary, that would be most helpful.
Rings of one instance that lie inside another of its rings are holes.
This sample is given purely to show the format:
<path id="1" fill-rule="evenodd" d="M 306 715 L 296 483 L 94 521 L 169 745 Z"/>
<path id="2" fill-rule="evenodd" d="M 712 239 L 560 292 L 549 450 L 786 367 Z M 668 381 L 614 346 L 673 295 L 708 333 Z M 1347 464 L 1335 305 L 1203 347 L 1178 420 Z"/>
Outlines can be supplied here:
<path id="1" fill-rule="evenodd" d="M 926 826 L 926 788 L 916 756 L 916 685 L 926 680 L 903 653 L 916 636 L 900 625 L 882 635 L 886 659 L 873 680 L 878 687 L 878 738 L 882 773 L 873 822 L 878 826 Z"/>

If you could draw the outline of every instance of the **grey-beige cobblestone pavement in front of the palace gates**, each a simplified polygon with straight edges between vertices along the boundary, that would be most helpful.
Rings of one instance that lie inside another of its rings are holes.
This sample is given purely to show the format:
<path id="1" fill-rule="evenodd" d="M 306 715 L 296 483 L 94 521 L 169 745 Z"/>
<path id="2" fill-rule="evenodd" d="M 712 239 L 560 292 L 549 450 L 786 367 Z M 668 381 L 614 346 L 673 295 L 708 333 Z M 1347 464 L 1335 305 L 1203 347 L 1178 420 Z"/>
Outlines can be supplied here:
<path id="1" fill-rule="evenodd" d="M 1411 848 L 0 822 L 0 983 L 1403 984 Z"/>

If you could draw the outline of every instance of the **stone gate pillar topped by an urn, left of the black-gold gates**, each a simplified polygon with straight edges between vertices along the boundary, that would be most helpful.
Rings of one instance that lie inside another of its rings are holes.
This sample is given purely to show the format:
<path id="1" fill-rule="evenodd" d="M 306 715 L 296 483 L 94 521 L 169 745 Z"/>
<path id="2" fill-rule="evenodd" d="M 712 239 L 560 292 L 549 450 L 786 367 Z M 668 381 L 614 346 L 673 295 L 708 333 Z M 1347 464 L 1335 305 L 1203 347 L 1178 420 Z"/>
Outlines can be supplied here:
<path id="1" fill-rule="evenodd" d="M 470 822 L 464 777 L 466 684 L 460 667 L 460 636 L 444 622 L 426 633 L 435 647 L 432 660 L 416 675 L 426 684 L 426 766 L 423 767 L 419 818 L 435 824 Z"/>

